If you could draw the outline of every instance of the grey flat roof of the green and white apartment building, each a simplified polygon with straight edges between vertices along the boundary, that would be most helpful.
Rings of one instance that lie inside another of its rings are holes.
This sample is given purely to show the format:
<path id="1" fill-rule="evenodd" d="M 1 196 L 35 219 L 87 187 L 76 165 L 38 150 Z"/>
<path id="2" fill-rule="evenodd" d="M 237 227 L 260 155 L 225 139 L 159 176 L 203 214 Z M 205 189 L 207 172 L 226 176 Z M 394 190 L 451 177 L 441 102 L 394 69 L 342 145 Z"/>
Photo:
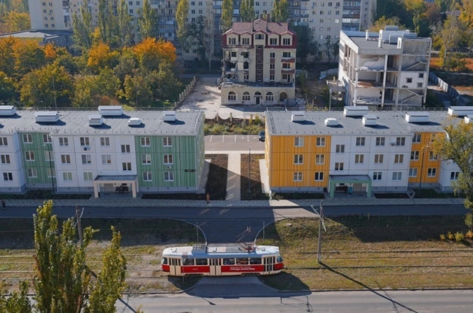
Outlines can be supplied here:
<path id="1" fill-rule="evenodd" d="M 60 111 L 54 123 L 36 123 L 36 111 L 17 111 L 12 116 L 0 116 L 0 134 L 21 132 L 51 132 L 60 134 L 130 134 L 130 135 L 196 135 L 203 111 L 176 112 L 175 122 L 165 122 L 162 111 L 126 111 L 121 116 L 103 116 L 102 125 L 89 125 L 94 111 Z M 98 117 L 94 117 L 98 118 Z M 141 118 L 141 125 L 129 126 L 130 118 Z"/>

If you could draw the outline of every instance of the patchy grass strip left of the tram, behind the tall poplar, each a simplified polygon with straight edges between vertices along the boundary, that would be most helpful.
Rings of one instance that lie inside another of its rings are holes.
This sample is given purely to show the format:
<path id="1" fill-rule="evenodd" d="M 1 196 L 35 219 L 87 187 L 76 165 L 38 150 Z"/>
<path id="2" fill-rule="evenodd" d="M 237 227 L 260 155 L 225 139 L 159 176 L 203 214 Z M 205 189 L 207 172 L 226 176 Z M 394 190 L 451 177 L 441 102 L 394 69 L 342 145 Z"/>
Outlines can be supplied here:
<path id="1" fill-rule="evenodd" d="M 60 225 L 64 219 L 60 219 Z M 172 219 L 82 219 L 82 227 L 100 229 L 87 250 L 87 263 L 94 271 L 101 267 L 101 253 L 111 238 L 110 226 L 122 234 L 122 251 L 127 258 L 127 291 L 176 291 L 198 278 L 171 278 L 161 272 L 161 253 L 171 246 L 198 242 L 196 228 Z M 0 219 L 0 280 L 10 288 L 33 277 L 33 219 Z M 199 243 L 203 234 L 199 233 Z"/>

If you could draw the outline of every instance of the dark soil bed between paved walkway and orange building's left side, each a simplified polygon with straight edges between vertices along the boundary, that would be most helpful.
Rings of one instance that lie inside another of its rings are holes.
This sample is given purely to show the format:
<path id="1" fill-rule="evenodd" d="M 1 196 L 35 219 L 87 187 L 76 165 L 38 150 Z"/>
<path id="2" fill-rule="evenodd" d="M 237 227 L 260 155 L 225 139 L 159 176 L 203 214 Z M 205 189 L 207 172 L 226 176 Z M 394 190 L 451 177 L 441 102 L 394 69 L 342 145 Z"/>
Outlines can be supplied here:
<path id="1" fill-rule="evenodd" d="M 240 190 L 241 200 L 268 200 L 268 196 L 261 191 L 260 159 L 265 155 L 251 155 L 251 187 L 248 194 L 249 155 L 241 155 Z"/>

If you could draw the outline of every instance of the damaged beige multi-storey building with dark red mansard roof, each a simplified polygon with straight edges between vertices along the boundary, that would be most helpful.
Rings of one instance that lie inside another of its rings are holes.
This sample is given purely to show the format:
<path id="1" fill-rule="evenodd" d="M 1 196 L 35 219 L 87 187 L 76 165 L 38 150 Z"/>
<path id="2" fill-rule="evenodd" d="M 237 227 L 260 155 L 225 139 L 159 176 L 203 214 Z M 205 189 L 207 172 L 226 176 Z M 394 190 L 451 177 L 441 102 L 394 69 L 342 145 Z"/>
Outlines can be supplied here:
<path id="1" fill-rule="evenodd" d="M 297 35 L 287 23 L 233 23 L 222 35 L 222 104 L 291 104 L 296 47 Z"/>

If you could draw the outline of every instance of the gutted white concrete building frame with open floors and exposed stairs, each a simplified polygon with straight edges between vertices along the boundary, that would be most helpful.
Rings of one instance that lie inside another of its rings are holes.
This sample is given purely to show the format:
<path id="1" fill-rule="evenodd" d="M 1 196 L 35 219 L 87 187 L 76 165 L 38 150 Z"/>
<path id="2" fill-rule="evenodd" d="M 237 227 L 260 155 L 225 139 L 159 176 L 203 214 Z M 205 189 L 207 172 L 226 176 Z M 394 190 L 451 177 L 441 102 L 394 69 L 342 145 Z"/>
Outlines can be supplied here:
<path id="1" fill-rule="evenodd" d="M 338 84 L 346 105 L 419 107 L 425 103 L 431 38 L 386 26 L 341 31 Z"/>

